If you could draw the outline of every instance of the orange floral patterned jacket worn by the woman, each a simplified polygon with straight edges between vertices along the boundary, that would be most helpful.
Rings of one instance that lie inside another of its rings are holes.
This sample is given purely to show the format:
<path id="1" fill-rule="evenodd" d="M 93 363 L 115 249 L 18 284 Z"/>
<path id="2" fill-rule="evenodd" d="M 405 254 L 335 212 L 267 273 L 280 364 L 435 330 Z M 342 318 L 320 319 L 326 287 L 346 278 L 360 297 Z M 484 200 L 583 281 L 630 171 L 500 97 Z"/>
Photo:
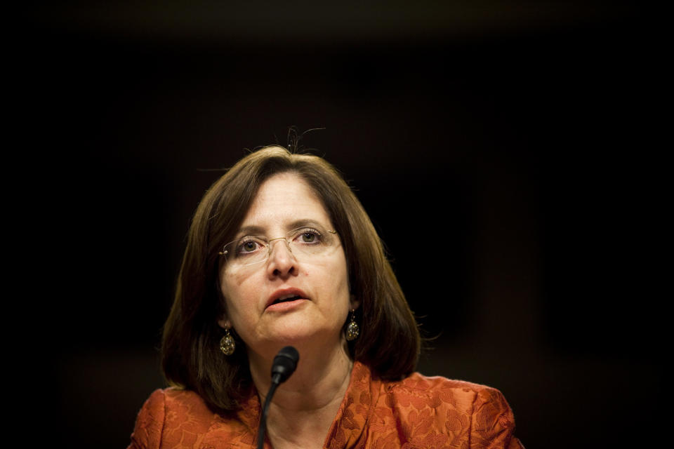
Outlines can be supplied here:
<path id="1" fill-rule="evenodd" d="M 236 412 L 218 415 L 194 391 L 157 390 L 138 413 L 128 449 L 255 449 L 259 419 L 255 391 Z M 523 449 L 514 429 L 496 389 L 418 373 L 385 382 L 356 362 L 323 447 Z"/>

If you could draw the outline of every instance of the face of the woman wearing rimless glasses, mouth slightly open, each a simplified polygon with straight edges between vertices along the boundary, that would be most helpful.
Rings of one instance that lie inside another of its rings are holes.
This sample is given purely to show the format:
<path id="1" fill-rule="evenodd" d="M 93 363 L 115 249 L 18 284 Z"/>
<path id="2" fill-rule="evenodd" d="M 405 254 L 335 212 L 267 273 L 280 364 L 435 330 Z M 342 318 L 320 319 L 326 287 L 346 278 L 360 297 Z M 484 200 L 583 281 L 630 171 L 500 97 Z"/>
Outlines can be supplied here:
<path id="1" fill-rule="evenodd" d="M 286 344 L 340 344 L 341 328 L 351 307 L 346 258 L 339 236 L 319 253 L 301 253 L 301 245 L 318 237 L 305 234 L 283 239 L 292 229 L 334 229 L 329 215 L 309 185 L 294 173 L 280 173 L 260 186 L 236 239 L 261 236 L 270 254 L 256 264 L 227 263 L 220 271 L 226 316 L 249 350 L 275 353 Z M 291 250 L 292 248 L 296 248 Z M 256 250 L 246 243 L 241 251 Z M 292 251 L 292 252 L 291 252 Z M 243 257 L 247 257 L 244 254 Z"/>

